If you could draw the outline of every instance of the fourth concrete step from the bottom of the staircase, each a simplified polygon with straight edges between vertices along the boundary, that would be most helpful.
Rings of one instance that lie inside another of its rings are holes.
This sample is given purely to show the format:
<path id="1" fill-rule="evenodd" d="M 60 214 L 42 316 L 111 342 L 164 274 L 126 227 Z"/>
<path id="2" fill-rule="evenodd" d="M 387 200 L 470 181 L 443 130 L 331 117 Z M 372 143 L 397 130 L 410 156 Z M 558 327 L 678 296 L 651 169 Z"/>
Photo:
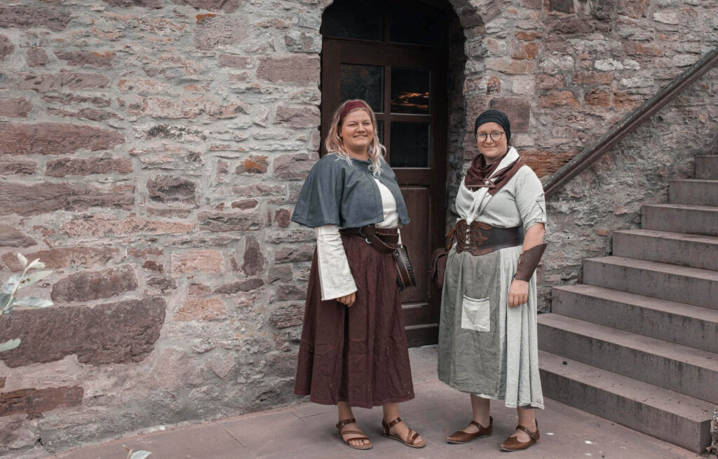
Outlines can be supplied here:
<path id="1" fill-rule="evenodd" d="M 718 309 L 718 272 L 625 257 L 584 260 L 584 283 Z"/>

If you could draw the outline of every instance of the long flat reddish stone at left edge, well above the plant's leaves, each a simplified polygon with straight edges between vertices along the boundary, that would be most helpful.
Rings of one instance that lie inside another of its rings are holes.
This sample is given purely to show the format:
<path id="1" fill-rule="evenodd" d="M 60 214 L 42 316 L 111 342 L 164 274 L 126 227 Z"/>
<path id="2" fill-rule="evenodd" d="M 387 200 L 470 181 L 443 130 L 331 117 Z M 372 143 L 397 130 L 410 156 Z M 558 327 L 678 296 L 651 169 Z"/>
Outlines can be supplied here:
<path id="1" fill-rule="evenodd" d="M 90 207 L 131 209 L 134 186 L 100 189 L 85 184 L 0 184 L 0 214 L 37 215 L 57 210 L 77 211 Z"/>

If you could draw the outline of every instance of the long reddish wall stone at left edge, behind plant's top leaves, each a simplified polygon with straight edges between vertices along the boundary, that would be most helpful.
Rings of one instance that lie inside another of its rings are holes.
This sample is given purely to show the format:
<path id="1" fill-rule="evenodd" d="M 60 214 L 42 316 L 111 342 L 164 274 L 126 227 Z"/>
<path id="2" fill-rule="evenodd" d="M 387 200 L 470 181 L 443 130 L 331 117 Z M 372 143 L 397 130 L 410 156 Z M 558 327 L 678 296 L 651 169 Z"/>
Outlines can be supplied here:
<path id="1" fill-rule="evenodd" d="M 39 258 L 49 269 L 65 268 L 67 266 L 106 265 L 113 259 L 119 250 L 112 247 L 67 247 L 39 252 L 24 253 L 28 260 Z M 22 271 L 22 264 L 17 260 L 14 252 L 2 256 L 11 271 Z"/>

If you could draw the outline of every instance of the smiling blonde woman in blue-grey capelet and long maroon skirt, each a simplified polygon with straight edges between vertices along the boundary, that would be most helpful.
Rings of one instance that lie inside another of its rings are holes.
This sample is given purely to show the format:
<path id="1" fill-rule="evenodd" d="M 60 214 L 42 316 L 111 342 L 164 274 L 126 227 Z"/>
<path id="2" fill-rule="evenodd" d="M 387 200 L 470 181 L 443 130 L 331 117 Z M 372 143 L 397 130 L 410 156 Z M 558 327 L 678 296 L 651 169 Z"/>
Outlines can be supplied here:
<path id="1" fill-rule="evenodd" d="M 292 214 L 317 235 L 294 392 L 336 404 L 339 436 L 351 448 L 372 448 L 352 407 L 378 405 L 383 436 L 423 448 L 399 417 L 398 403 L 413 399 L 414 387 L 396 264 L 379 250 L 398 243 L 409 217 L 369 105 L 342 103 L 325 146 Z"/>

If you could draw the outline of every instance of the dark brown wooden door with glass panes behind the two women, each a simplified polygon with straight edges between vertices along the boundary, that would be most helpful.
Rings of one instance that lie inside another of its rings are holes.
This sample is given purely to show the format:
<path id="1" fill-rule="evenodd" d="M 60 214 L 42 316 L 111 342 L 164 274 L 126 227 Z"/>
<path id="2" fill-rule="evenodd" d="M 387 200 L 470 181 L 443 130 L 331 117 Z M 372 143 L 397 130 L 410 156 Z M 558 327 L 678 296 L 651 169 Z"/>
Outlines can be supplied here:
<path id="1" fill-rule="evenodd" d="M 434 344 L 438 336 L 441 298 L 429 262 L 444 243 L 446 214 L 445 18 L 422 1 L 337 0 L 322 23 L 322 140 L 340 103 L 366 100 L 409 210 L 401 234 L 419 284 L 401 295 L 410 346 Z"/>

